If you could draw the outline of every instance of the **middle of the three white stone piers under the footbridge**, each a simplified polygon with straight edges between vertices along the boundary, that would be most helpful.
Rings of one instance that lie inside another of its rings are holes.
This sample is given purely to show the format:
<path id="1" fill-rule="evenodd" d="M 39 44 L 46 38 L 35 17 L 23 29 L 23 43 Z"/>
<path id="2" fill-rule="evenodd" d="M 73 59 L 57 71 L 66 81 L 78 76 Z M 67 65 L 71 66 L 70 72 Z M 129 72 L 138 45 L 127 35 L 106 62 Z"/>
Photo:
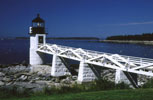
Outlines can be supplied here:
<path id="1" fill-rule="evenodd" d="M 78 83 L 90 82 L 97 79 L 94 71 L 90 68 L 87 63 L 80 62 L 78 72 Z"/>

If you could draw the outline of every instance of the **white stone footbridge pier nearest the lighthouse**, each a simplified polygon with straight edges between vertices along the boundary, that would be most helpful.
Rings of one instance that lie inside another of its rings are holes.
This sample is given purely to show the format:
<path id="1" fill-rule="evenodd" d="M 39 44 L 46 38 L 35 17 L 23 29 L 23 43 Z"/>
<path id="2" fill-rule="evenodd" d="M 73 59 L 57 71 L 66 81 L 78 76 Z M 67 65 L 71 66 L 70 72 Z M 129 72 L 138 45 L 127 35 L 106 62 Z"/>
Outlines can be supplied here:
<path id="1" fill-rule="evenodd" d="M 52 68 L 51 68 L 51 75 L 58 77 L 64 75 L 70 75 L 70 72 L 67 69 L 68 66 L 64 64 L 60 57 L 56 54 L 53 55 L 52 60 Z"/>

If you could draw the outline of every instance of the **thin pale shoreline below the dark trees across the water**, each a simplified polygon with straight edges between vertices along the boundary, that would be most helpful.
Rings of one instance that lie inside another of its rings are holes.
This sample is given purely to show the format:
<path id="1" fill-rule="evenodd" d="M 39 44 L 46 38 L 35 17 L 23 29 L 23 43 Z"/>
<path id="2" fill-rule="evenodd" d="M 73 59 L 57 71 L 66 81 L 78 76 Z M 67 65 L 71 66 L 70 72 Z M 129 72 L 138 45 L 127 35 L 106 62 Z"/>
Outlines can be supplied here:
<path id="1" fill-rule="evenodd" d="M 129 44 L 143 44 L 143 45 L 153 45 L 153 41 L 134 41 L 134 40 L 100 40 L 103 43 L 129 43 Z"/>

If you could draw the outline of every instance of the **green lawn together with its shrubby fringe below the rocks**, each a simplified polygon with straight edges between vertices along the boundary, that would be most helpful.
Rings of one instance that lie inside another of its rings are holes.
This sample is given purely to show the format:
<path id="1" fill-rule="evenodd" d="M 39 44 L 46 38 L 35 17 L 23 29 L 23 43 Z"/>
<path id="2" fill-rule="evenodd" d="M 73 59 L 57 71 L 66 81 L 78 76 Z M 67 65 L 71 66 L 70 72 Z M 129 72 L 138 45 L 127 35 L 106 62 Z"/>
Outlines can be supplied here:
<path id="1" fill-rule="evenodd" d="M 0 89 L 0 100 L 153 100 L 153 80 L 140 89 L 129 89 L 124 83 L 115 85 L 102 79 L 88 84 L 60 88 L 44 88 L 42 92 L 19 92 L 17 87 Z"/>

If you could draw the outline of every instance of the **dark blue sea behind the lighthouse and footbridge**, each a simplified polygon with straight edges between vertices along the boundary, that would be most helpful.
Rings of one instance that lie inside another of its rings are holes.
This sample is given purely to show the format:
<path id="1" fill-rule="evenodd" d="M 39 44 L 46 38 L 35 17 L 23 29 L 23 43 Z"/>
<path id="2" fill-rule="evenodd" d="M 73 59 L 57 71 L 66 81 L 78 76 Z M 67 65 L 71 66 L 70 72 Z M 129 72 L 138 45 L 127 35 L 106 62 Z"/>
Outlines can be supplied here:
<path id="1" fill-rule="evenodd" d="M 47 43 L 153 59 L 153 46 L 98 43 L 88 40 L 47 40 Z M 51 59 L 47 60 L 51 62 Z M 29 63 L 29 40 L 0 40 L 0 64 Z"/>

